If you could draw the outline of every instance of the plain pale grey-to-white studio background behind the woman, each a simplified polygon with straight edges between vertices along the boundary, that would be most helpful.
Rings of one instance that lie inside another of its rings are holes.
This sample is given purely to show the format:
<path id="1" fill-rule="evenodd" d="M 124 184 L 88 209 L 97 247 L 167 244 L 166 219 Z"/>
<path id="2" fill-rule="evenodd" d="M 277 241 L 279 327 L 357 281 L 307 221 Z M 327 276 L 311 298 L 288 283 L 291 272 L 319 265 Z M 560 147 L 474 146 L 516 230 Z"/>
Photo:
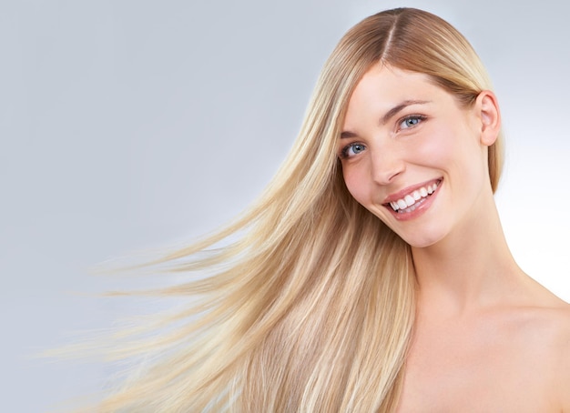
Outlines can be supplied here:
<path id="1" fill-rule="evenodd" d="M 129 307 L 89 295 L 108 280 L 87 269 L 239 213 L 289 151 L 341 35 L 401 5 L 443 16 L 482 56 L 507 135 L 506 235 L 524 270 L 570 300 L 567 2 L 4 0 L 2 411 L 101 385 L 100 363 L 29 358 Z"/>

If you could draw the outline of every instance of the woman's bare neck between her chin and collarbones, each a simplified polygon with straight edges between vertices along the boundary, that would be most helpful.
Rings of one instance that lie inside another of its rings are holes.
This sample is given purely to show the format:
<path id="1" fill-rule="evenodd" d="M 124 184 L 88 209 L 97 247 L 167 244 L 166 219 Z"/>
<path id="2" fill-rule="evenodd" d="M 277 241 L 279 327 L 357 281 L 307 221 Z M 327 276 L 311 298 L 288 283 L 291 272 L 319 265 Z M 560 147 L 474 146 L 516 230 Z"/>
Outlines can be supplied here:
<path id="1" fill-rule="evenodd" d="M 480 210 L 435 245 L 412 247 L 418 307 L 458 315 L 504 303 L 521 290 L 528 277 L 514 262 L 492 196 Z"/>

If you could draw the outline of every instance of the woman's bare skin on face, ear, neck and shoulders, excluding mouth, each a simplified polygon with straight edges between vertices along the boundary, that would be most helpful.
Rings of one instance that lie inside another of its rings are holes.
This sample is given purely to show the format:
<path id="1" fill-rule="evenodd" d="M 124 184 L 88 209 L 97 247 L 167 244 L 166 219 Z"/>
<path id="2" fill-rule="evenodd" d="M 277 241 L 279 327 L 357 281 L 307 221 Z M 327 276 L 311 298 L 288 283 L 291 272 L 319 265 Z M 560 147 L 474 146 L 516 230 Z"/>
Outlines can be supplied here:
<path id="1" fill-rule="evenodd" d="M 517 266 L 489 181 L 497 99 L 374 65 L 339 140 L 351 195 L 412 246 L 417 315 L 399 412 L 570 412 L 570 305 Z M 408 215 L 386 199 L 439 182 Z"/>

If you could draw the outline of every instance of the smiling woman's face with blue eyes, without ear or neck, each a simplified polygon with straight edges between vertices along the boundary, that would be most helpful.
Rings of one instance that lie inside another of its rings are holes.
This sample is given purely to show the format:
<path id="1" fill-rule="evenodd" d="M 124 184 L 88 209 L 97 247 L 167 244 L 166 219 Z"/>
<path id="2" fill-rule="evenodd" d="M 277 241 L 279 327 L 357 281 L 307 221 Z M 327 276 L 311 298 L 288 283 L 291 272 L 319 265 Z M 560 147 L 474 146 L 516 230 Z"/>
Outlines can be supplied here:
<path id="1" fill-rule="evenodd" d="M 463 108 L 428 76 L 383 65 L 351 96 L 338 145 L 346 186 L 412 247 L 464 231 L 493 196 L 482 102 Z"/>

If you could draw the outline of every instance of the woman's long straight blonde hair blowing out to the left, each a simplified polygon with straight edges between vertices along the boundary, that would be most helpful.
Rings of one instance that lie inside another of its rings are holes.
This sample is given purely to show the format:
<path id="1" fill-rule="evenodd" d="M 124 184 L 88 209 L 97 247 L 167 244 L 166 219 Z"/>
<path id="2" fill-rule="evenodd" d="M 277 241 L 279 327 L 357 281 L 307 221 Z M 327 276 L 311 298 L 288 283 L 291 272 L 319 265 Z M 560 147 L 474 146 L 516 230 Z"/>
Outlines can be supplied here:
<path id="1" fill-rule="evenodd" d="M 379 61 L 430 76 L 464 105 L 491 88 L 471 45 L 435 15 L 399 8 L 353 26 L 324 65 L 293 150 L 260 199 L 218 234 L 160 260 L 208 275 L 160 291 L 192 297 L 192 306 L 165 320 L 175 323 L 168 334 L 127 351 L 156 361 L 100 411 L 397 406 L 414 320 L 411 250 L 351 198 L 336 156 L 352 90 Z M 488 152 L 494 189 L 501 149 L 500 138 Z M 212 248 L 234 234 L 237 241 Z"/>

